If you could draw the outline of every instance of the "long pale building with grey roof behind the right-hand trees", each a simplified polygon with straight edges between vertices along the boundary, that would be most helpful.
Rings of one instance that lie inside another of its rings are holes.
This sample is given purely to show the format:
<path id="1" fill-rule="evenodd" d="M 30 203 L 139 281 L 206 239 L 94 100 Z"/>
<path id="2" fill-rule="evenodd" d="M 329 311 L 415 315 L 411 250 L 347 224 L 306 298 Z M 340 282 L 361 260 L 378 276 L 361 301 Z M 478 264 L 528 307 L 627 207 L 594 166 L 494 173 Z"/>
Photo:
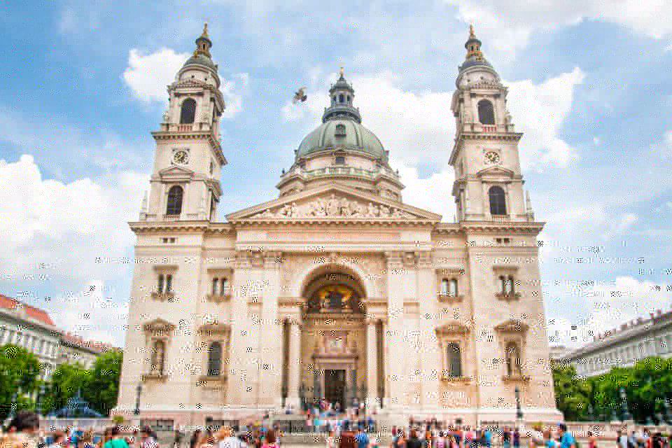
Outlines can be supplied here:
<path id="1" fill-rule="evenodd" d="M 576 366 L 576 373 L 594 377 L 612 367 L 632 367 L 649 356 L 672 357 L 672 311 L 660 309 L 594 337 L 593 342 L 567 353 L 562 363 Z"/>

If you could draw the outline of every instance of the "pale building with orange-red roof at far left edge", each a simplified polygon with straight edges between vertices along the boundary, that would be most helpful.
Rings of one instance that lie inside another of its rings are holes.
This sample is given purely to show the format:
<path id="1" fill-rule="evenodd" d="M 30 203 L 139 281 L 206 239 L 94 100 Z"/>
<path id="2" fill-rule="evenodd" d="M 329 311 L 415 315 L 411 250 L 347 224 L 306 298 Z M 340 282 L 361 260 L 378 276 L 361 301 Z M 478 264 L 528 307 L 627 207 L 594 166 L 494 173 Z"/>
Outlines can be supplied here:
<path id="1" fill-rule="evenodd" d="M 0 295 L 0 345 L 15 344 L 34 353 L 48 379 L 59 360 L 60 332 L 49 314 L 5 295 Z"/>

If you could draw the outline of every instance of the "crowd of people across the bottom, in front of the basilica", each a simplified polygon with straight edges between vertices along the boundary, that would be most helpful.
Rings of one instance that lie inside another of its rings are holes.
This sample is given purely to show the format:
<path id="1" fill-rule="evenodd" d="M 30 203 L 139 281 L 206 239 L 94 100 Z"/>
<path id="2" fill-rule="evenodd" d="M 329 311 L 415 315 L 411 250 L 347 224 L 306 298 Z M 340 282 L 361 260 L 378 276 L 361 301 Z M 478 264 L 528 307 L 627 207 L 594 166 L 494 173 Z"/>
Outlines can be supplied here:
<path id="1" fill-rule="evenodd" d="M 288 412 L 290 413 L 290 412 Z M 364 407 L 339 409 L 326 402 L 318 403 L 305 412 L 308 433 L 324 433 L 326 448 L 379 448 L 381 433 L 375 433 L 375 421 Z M 267 418 L 267 417 L 266 417 Z M 374 434 L 370 436 L 371 434 Z M 533 426 L 530 430 L 517 427 L 484 426 L 470 428 L 461 424 L 443 425 L 435 419 L 409 420 L 404 428 L 391 428 L 389 448 L 670 448 L 669 437 L 650 433 L 647 429 L 633 430 L 630 434 L 618 431 L 613 441 L 599 439 L 587 433 L 586 447 L 579 444 L 563 423 L 556 427 Z M 283 433 L 267 421 L 246 426 L 235 433 L 228 427 L 195 430 L 189 437 L 189 448 L 278 448 Z M 172 447 L 186 448 L 187 440 L 176 430 Z M 19 412 L 0 434 L 0 448 L 162 448 L 151 428 L 129 430 L 115 426 L 94 433 L 92 430 L 67 428 L 64 431 L 43 433 L 34 412 Z"/>

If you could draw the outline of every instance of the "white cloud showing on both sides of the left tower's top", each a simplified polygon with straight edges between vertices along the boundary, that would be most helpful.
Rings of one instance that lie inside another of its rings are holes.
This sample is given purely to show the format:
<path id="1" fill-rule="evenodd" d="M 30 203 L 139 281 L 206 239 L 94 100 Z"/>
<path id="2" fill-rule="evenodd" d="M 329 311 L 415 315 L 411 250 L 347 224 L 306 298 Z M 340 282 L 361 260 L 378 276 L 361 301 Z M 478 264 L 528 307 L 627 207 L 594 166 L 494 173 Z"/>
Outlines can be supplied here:
<path id="1" fill-rule="evenodd" d="M 189 56 L 189 53 L 178 53 L 171 48 L 161 48 L 149 54 L 133 48 L 128 54 L 124 81 L 141 102 L 167 102 L 166 88 Z M 248 73 L 235 73 L 231 79 L 221 78 L 221 81 L 226 104 L 223 118 L 233 118 L 242 109 L 242 95 L 247 90 L 249 76 Z"/>

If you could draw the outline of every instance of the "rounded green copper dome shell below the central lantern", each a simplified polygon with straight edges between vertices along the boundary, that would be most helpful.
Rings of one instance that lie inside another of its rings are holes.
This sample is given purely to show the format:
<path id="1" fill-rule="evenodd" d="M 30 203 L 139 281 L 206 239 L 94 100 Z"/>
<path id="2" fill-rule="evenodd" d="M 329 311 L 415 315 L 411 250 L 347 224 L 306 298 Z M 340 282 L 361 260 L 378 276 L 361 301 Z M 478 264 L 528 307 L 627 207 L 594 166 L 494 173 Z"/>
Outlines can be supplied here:
<path id="1" fill-rule="evenodd" d="M 350 118 L 330 118 L 308 134 L 296 151 L 296 158 L 311 153 L 342 148 L 387 161 L 387 153 L 376 134 Z"/>

